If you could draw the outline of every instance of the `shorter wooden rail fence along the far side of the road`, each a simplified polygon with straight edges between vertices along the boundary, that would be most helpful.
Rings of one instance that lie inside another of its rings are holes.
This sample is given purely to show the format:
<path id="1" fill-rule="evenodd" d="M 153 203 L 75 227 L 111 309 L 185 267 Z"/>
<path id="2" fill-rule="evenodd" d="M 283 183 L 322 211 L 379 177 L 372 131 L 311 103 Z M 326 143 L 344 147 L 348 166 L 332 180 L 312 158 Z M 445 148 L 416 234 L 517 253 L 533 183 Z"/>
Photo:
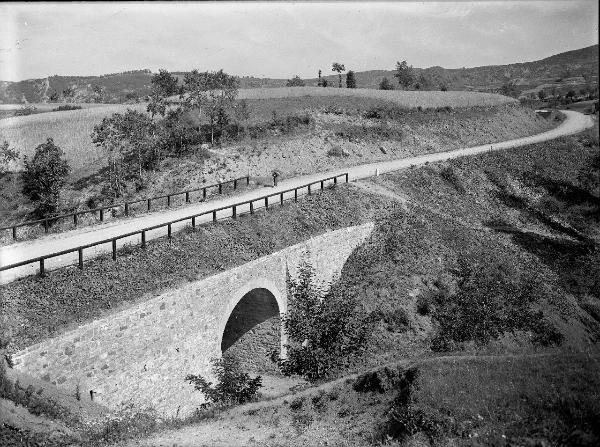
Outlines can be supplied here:
<path id="1" fill-rule="evenodd" d="M 99 213 L 100 214 L 99 220 L 100 220 L 100 222 L 103 222 L 104 221 L 104 211 L 106 211 L 106 210 L 112 210 L 112 209 L 123 207 L 125 216 L 129 216 L 129 209 L 132 205 L 146 202 L 147 210 L 150 211 L 152 208 L 152 201 L 166 198 L 167 199 L 167 207 L 169 207 L 169 206 L 171 206 L 171 198 L 176 197 L 176 196 L 181 196 L 181 195 L 185 195 L 185 203 L 190 203 L 190 194 L 191 193 L 202 191 L 202 198 L 206 199 L 207 190 L 209 190 L 211 188 L 218 188 L 219 194 L 221 194 L 223 192 L 224 185 L 233 184 L 233 189 L 237 189 L 238 182 L 241 182 L 241 181 L 245 181 L 246 186 L 249 185 L 250 184 L 250 176 L 247 175 L 245 177 L 239 177 L 239 178 L 227 180 L 227 181 L 220 182 L 220 183 L 215 183 L 213 185 L 206 185 L 201 188 L 188 189 L 186 191 L 173 192 L 170 194 L 163 194 L 161 196 L 146 197 L 146 198 L 140 199 L 140 200 L 125 201 L 123 203 L 114 203 L 112 205 L 101 206 L 98 208 L 93 208 L 91 210 L 75 211 L 73 213 L 59 214 L 58 216 L 46 217 L 44 219 L 30 220 L 27 222 L 21 222 L 19 224 L 0 227 L 0 231 L 12 230 L 12 237 L 14 240 L 17 240 L 17 228 L 41 224 L 44 226 L 44 232 L 48 233 L 48 230 L 50 228 L 50 223 L 54 223 L 59 219 L 64 219 L 64 218 L 70 217 L 70 218 L 73 218 L 73 225 L 75 227 L 77 227 L 79 216 L 81 216 L 83 214 L 92 214 L 92 213 L 93 214 Z"/>

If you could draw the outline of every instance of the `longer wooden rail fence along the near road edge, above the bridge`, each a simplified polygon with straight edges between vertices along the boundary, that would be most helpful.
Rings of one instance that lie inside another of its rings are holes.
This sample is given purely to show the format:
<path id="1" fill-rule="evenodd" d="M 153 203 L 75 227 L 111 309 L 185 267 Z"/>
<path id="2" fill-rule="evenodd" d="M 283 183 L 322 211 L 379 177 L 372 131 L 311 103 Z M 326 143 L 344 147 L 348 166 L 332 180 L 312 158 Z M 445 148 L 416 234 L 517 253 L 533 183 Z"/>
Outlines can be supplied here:
<path id="1" fill-rule="evenodd" d="M 175 220 L 172 220 L 172 221 L 169 221 L 169 222 L 165 222 L 165 223 L 153 225 L 151 227 L 146 227 L 146 228 L 143 228 L 141 230 L 136 230 L 136 231 L 131 231 L 129 233 L 124 233 L 124 234 L 121 234 L 119 236 L 112 237 L 112 238 L 109 238 L 109 239 L 103 239 L 101 241 L 91 242 L 89 244 L 80 245 L 78 247 L 69 248 L 69 249 L 62 250 L 62 251 L 57 251 L 57 252 L 50 253 L 50 254 L 47 254 L 47 255 L 44 255 L 44 256 L 38 256 L 36 258 L 27 259 L 25 261 L 17 262 L 17 263 L 14 263 L 14 264 L 9 264 L 9 265 L 6 265 L 6 266 L 0 266 L 0 272 L 6 271 L 6 270 L 11 270 L 11 269 L 14 269 L 14 268 L 22 267 L 24 265 L 29 265 L 29 264 L 33 264 L 35 262 L 38 262 L 39 265 L 40 265 L 39 273 L 40 273 L 41 276 L 44 276 L 44 274 L 45 274 L 44 261 L 46 259 L 55 258 L 57 256 L 62 256 L 62 255 L 65 255 L 65 254 L 75 253 L 75 252 L 78 253 L 78 258 L 79 258 L 78 259 L 78 261 L 79 261 L 78 262 L 78 267 L 80 269 L 83 269 L 83 250 L 86 249 L 86 248 L 91 248 L 91 247 L 95 247 L 97 245 L 108 244 L 108 243 L 112 244 L 112 259 L 116 260 L 117 259 L 117 241 L 119 239 L 124 239 L 124 238 L 135 236 L 135 235 L 139 234 L 141 236 L 141 247 L 144 248 L 146 246 L 146 233 L 148 231 L 156 230 L 158 228 L 167 227 L 167 236 L 169 238 L 171 238 L 172 225 L 175 224 L 175 223 L 183 222 L 183 221 L 186 221 L 186 220 L 191 220 L 192 228 L 196 228 L 196 219 L 198 217 L 207 216 L 207 215 L 211 215 L 212 214 L 212 222 L 216 222 L 216 220 L 217 220 L 217 213 L 219 211 L 228 210 L 228 209 L 231 209 L 231 216 L 230 217 L 233 218 L 233 219 L 236 219 L 237 216 L 239 215 L 238 214 L 238 208 L 240 206 L 243 206 L 243 205 L 249 205 L 249 207 L 250 207 L 249 213 L 250 214 L 254 214 L 254 203 L 255 202 L 264 201 L 265 209 L 268 210 L 269 209 L 269 199 L 271 197 L 279 196 L 279 202 L 280 202 L 281 205 L 283 205 L 284 194 L 292 192 L 292 191 L 294 191 L 294 201 L 297 202 L 298 201 L 298 190 L 302 190 L 304 188 L 308 188 L 308 195 L 310 195 L 312 193 L 311 187 L 313 185 L 320 185 L 320 189 L 323 190 L 325 188 L 325 182 L 333 180 L 333 184 L 336 185 L 338 183 L 338 178 L 340 178 L 340 177 L 343 177 L 345 179 L 345 182 L 348 183 L 348 181 L 349 181 L 348 173 L 338 174 L 338 175 L 335 175 L 335 176 L 332 176 L 332 177 L 327 177 L 327 178 L 324 178 L 324 179 L 315 180 L 314 182 L 305 183 L 305 184 L 303 184 L 301 186 L 296 186 L 294 188 L 286 189 L 284 191 L 279 191 L 279 192 L 276 192 L 276 193 L 267 194 L 267 195 L 258 197 L 256 199 L 245 200 L 243 202 L 234 203 L 233 205 L 227 205 L 227 206 L 222 206 L 222 207 L 219 207 L 219 208 L 213 208 L 213 209 L 208 210 L 208 211 L 203 211 L 202 213 L 197 213 L 197 214 L 192 214 L 192 215 L 189 215 L 189 216 L 186 216 L 186 217 L 181 217 L 179 219 L 175 219 Z M 243 179 L 244 178 L 246 178 L 246 177 L 243 177 Z M 202 189 L 202 188 L 200 188 L 200 189 Z M 163 196 L 163 197 L 166 197 L 166 196 Z"/>

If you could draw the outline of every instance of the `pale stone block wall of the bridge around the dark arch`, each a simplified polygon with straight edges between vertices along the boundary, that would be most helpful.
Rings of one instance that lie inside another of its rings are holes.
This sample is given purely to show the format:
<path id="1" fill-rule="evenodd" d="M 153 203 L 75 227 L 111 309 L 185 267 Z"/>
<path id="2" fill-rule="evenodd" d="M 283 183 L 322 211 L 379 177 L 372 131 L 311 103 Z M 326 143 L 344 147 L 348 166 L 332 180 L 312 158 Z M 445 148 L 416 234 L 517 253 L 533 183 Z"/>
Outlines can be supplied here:
<path id="1" fill-rule="evenodd" d="M 209 360 L 245 331 L 286 311 L 286 266 L 309 256 L 321 281 L 333 280 L 373 224 L 330 231 L 255 261 L 169 290 L 14 356 L 15 368 L 116 408 L 152 405 L 187 414 L 203 402 L 184 381 L 210 376 Z M 281 340 L 285 339 L 282 334 Z"/>

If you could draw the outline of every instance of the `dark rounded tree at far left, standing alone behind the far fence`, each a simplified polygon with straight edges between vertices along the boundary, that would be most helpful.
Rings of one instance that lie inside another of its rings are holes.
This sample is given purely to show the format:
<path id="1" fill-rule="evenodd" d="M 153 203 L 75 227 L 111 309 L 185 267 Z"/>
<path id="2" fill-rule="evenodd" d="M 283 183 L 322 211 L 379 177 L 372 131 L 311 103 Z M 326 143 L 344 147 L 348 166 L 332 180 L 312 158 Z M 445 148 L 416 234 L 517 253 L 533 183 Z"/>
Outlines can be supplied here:
<path id="1" fill-rule="evenodd" d="M 36 147 L 31 160 L 25 156 L 23 161 L 23 194 L 35 202 L 34 213 L 38 217 L 47 217 L 58 207 L 60 189 L 70 172 L 69 163 L 52 138 Z"/>

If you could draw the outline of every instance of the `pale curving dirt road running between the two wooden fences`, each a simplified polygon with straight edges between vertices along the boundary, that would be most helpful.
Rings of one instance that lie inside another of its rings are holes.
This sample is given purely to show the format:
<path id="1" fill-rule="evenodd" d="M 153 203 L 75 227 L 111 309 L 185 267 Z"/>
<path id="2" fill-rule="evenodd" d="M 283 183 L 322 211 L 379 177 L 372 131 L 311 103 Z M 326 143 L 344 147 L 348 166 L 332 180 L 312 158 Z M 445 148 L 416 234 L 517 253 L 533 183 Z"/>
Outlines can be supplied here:
<path id="1" fill-rule="evenodd" d="M 533 143 L 540 143 L 543 141 L 559 138 L 565 135 L 575 134 L 581 132 L 582 130 L 588 129 L 594 125 L 594 121 L 590 116 L 583 115 L 579 112 L 574 111 L 563 111 L 563 113 L 566 115 L 566 119 L 558 127 L 547 132 L 532 135 L 529 137 L 517 138 L 515 140 L 504 141 L 501 143 L 494 143 L 493 145 L 475 146 L 449 152 L 439 152 L 435 154 L 421 155 L 418 157 L 402 158 L 393 161 L 368 163 L 349 168 L 337 169 L 329 172 L 321 172 L 318 174 L 296 177 L 281 181 L 277 187 L 268 188 L 266 190 L 255 189 L 233 197 L 223 198 L 221 200 L 213 200 L 210 202 L 198 203 L 179 209 L 165 210 L 149 215 L 133 217 L 130 219 L 120 219 L 113 222 L 107 222 L 106 224 L 101 226 L 83 227 L 69 232 L 54 234 L 45 237 L 44 239 L 24 241 L 0 247 L 0 265 L 5 266 L 9 264 L 15 264 L 27 259 L 59 252 L 69 248 L 76 248 L 81 245 L 90 244 L 104 239 L 110 239 L 120 234 L 125 234 L 136 230 L 141 230 L 143 228 L 151 227 L 153 225 L 166 223 L 177 218 L 183 218 L 193 214 L 200 214 L 202 212 L 209 211 L 214 208 L 224 207 L 246 200 L 258 199 L 265 195 L 265 193 L 267 192 L 277 194 L 286 189 L 301 186 L 312 181 L 319 181 L 320 179 L 331 177 L 337 174 L 342 174 L 345 172 L 349 174 L 349 178 L 352 181 L 371 177 L 376 175 L 377 173 L 381 174 L 385 172 L 395 171 L 410 166 L 421 165 L 427 162 L 443 161 L 467 155 L 476 155 L 483 152 L 488 152 L 490 150 L 502 150 L 519 146 L 525 146 Z M 304 193 L 306 193 L 306 191 Z M 300 192 L 299 194 L 301 195 Z M 290 197 L 293 197 L 293 192 L 285 194 L 286 199 Z M 276 201 L 276 198 L 273 197 L 271 200 Z M 261 202 L 256 202 L 254 204 L 255 209 L 259 209 L 262 206 L 264 205 L 262 205 Z M 245 213 L 248 211 L 249 206 L 238 208 L 238 213 Z M 225 210 L 219 212 L 217 214 L 217 217 L 219 219 L 228 218 L 230 217 L 230 214 L 231 211 Z M 198 218 L 197 224 L 209 221 L 210 219 L 210 216 Z M 189 220 L 185 222 L 180 222 L 178 224 L 174 224 L 172 230 L 173 232 L 176 232 L 188 225 L 190 225 Z M 166 231 L 166 228 L 160 228 L 157 230 L 149 231 L 147 232 L 146 239 L 150 240 L 165 236 Z M 117 243 L 117 247 L 122 247 L 125 244 L 139 245 L 140 242 L 140 235 L 138 234 L 119 240 Z M 111 244 L 107 243 L 86 249 L 84 251 L 84 256 L 85 259 L 90 259 L 100 254 L 110 253 L 111 250 Z M 47 259 L 45 261 L 45 268 L 46 270 L 52 270 L 66 265 L 76 264 L 77 262 L 78 254 L 69 253 L 52 259 Z M 33 263 L 15 269 L 0 272 L 0 284 L 5 284 L 17 278 L 35 274 L 37 273 L 37 271 L 38 264 Z"/>

